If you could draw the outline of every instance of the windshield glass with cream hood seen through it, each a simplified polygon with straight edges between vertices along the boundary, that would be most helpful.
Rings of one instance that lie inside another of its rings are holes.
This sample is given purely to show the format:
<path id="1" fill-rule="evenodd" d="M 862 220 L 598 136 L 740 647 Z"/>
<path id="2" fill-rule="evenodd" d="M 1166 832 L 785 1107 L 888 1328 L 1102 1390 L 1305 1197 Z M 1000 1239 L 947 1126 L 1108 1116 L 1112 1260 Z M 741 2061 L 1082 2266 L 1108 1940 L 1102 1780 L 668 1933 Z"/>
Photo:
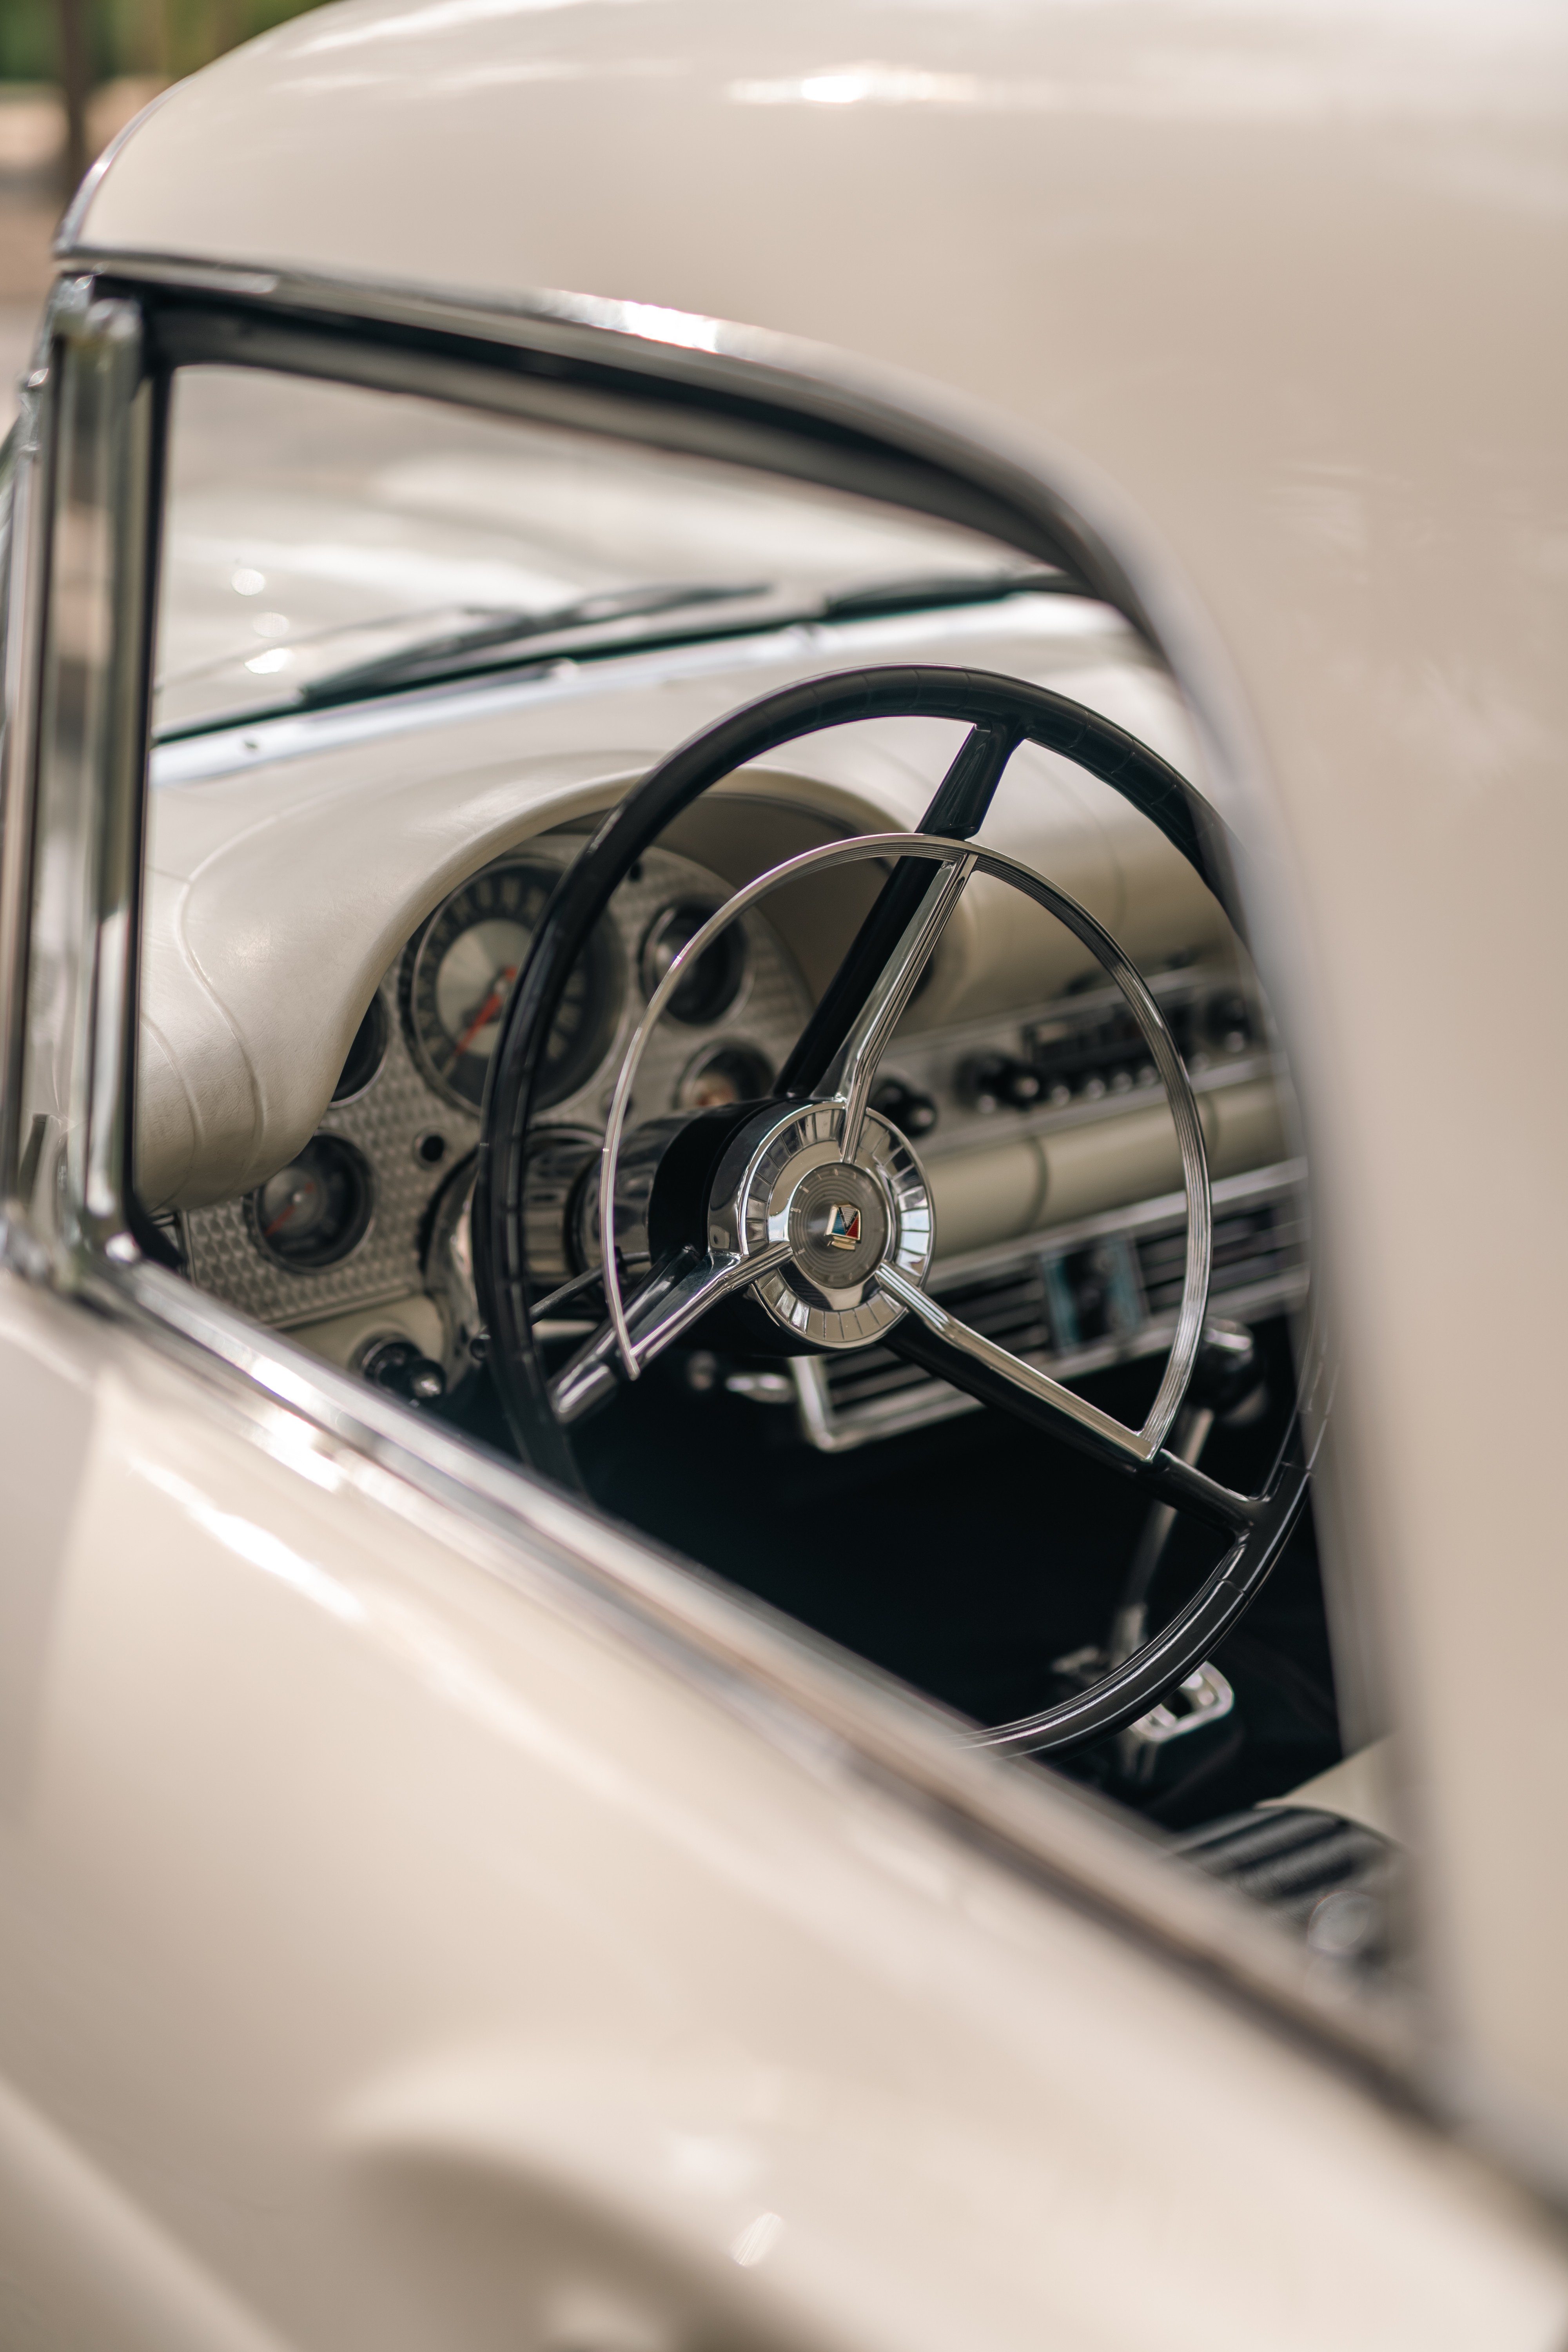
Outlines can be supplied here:
<path id="1" fill-rule="evenodd" d="M 745 466 L 195 367 L 174 386 L 155 731 L 1041 579 L 976 532 Z"/>

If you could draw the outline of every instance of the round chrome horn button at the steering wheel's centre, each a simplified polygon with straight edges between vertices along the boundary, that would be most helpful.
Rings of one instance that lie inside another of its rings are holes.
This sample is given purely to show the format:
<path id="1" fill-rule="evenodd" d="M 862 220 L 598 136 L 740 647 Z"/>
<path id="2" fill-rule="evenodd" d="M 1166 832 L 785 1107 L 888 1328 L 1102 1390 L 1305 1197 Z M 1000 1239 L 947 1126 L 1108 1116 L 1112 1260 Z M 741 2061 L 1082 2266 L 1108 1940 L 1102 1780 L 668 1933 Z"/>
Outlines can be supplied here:
<path id="1" fill-rule="evenodd" d="M 752 1256 L 788 1242 L 790 1258 L 752 1296 L 795 1341 L 865 1348 L 903 1315 L 877 1284 L 893 1263 L 910 1282 L 931 1265 L 924 1171 L 879 1112 L 867 1110 L 856 1157 L 839 1160 L 837 1103 L 769 1110 L 748 1127 L 715 1176 L 708 1244 Z"/>

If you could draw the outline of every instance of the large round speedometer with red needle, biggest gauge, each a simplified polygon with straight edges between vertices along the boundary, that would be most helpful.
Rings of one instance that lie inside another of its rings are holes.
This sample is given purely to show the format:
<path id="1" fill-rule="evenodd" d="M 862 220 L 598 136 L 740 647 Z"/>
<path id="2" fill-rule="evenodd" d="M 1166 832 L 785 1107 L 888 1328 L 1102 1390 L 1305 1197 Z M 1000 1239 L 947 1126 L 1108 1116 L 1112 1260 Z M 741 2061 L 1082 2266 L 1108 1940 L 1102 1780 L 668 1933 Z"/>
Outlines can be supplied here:
<path id="1" fill-rule="evenodd" d="M 501 1016 L 522 971 L 559 868 L 524 858 L 487 866 L 454 889 L 411 941 L 402 1014 L 421 1070 L 449 1101 L 477 1110 L 501 1040 Z M 543 1101 L 583 1087 L 616 1028 L 618 953 L 599 927 L 567 981 L 545 1049 Z"/>

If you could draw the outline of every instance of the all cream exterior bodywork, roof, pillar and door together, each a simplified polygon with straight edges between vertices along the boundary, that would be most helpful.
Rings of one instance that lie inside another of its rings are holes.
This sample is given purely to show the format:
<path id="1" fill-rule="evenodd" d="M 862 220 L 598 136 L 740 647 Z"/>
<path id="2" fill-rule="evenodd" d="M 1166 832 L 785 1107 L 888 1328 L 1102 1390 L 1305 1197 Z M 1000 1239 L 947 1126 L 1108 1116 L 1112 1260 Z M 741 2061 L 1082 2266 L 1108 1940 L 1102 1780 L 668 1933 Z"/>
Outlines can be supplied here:
<path id="1" fill-rule="evenodd" d="M 73 228 L 867 369 L 1112 536 L 1302 1089 L 1432 2072 L 1547 2178 L 1561 24 L 355 5 L 174 92 Z M 475 1557 L 289 1416 L 256 1444 L 14 1277 L 0 1376 L 24 2314 L 247 2352 L 1561 2343 L 1561 2239 L 1497 2176 L 559 1562 Z"/>

